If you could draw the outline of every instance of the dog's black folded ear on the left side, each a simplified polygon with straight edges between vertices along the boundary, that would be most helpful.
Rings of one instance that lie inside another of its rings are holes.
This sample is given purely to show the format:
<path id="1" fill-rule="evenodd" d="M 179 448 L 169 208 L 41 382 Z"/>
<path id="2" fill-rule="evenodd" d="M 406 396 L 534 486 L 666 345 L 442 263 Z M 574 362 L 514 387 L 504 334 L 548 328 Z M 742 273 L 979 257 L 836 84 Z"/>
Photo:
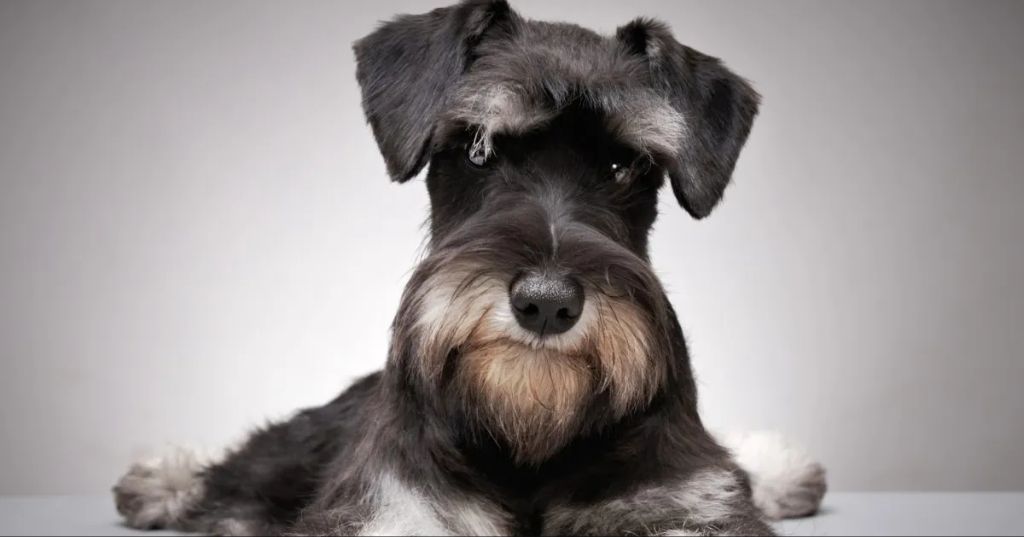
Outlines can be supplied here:
<path id="1" fill-rule="evenodd" d="M 393 180 L 415 176 L 430 159 L 437 114 L 472 46 L 508 12 L 504 0 L 466 0 L 398 16 L 355 42 L 362 110 Z"/>

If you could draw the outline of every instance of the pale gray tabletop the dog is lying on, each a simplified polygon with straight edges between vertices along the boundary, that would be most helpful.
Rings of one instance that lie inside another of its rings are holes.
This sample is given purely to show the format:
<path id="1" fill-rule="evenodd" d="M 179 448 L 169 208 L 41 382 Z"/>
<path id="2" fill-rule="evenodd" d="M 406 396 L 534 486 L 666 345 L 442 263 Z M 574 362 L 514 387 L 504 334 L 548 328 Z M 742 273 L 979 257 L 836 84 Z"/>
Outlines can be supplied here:
<path id="1" fill-rule="evenodd" d="M 780 535 L 1024 535 L 1024 493 L 831 493 L 816 517 Z M 108 496 L 0 496 L 0 535 L 180 535 L 137 532 Z"/>

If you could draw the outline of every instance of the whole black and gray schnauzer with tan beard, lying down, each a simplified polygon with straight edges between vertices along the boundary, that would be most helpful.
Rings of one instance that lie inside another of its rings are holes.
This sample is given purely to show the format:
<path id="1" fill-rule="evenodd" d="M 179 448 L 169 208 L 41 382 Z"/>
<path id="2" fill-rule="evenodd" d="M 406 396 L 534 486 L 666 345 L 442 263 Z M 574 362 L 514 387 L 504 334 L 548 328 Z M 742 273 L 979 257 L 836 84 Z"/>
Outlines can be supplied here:
<path id="1" fill-rule="evenodd" d="M 705 428 L 647 238 L 669 177 L 722 198 L 760 97 L 635 19 L 613 36 L 468 0 L 354 45 L 391 178 L 425 167 L 429 243 L 383 371 L 219 461 L 132 466 L 134 528 L 224 535 L 770 535 L 824 470 Z"/>

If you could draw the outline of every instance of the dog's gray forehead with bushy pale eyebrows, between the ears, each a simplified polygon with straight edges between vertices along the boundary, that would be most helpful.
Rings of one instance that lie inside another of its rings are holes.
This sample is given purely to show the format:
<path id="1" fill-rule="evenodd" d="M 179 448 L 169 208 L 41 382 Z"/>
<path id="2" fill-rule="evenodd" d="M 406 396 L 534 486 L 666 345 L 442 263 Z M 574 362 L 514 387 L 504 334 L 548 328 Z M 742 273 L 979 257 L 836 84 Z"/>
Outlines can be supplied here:
<path id="1" fill-rule="evenodd" d="M 643 153 L 672 155 L 682 143 L 682 115 L 653 86 L 646 59 L 614 37 L 519 20 L 486 36 L 474 55 L 443 119 L 479 129 L 487 151 L 495 134 L 530 131 L 570 107 L 599 112 L 611 133 Z"/>

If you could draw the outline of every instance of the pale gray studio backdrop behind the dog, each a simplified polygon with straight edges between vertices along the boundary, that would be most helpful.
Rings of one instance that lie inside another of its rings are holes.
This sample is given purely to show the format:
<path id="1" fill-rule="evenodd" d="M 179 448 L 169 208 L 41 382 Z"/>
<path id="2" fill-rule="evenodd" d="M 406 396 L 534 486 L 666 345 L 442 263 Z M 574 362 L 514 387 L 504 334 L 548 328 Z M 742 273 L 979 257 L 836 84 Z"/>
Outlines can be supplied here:
<path id="1" fill-rule="evenodd" d="M 765 96 L 725 203 L 665 196 L 652 239 L 714 428 L 838 490 L 1024 489 L 1024 3 L 516 6 L 658 16 Z M 103 491 L 382 364 L 427 199 L 349 44 L 424 10 L 0 4 L 0 493 Z"/>

